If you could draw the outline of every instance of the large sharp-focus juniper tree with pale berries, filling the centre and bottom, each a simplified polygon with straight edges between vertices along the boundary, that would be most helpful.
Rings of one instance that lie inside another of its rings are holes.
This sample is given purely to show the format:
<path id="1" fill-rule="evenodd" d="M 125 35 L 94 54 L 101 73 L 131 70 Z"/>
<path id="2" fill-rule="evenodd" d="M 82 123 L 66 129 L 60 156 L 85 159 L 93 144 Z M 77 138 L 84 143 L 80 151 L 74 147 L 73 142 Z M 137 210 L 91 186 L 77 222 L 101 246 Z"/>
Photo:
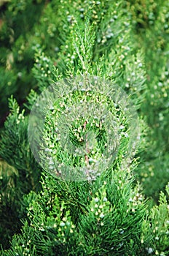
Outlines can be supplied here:
<path id="1" fill-rule="evenodd" d="M 147 86 L 124 2 L 52 7 L 60 50 L 36 45 L 37 89 L 25 110 L 9 99 L 1 134 L 18 189 L 2 187 L 1 200 L 11 192 L 23 225 L 2 255 L 168 255 L 167 198 L 149 212 L 134 176 L 146 148 Z"/>

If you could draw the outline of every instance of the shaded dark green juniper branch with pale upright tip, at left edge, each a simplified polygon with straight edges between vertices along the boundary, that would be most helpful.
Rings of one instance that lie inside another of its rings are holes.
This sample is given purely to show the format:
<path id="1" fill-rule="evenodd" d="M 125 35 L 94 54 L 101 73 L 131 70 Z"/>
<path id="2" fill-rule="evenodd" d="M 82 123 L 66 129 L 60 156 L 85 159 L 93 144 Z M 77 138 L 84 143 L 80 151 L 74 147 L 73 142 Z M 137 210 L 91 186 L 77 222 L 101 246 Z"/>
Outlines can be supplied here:
<path id="1" fill-rule="evenodd" d="M 24 110 L 19 113 L 20 108 L 13 97 L 9 99 L 9 108 L 10 114 L 1 133 L 1 157 L 20 170 L 23 177 L 36 177 L 34 170 L 37 166 L 28 145 L 28 117 L 24 116 Z M 32 187 L 34 186 L 32 183 Z"/>

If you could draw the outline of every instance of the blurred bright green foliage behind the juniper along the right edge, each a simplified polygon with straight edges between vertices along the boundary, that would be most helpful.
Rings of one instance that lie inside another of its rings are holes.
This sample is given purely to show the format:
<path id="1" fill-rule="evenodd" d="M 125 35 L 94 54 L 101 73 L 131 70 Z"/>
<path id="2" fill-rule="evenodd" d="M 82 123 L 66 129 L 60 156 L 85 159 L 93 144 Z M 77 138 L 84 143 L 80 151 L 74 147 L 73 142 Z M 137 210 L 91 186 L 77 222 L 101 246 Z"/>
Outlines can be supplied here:
<path id="1" fill-rule="evenodd" d="M 129 13 L 143 48 L 147 72 L 146 100 L 141 112 L 149 125 L 149 147 L 141 155 L 137 174 L 147 196 L 159 199 L 168 183 L 168 1 L 136 1 Z"/>

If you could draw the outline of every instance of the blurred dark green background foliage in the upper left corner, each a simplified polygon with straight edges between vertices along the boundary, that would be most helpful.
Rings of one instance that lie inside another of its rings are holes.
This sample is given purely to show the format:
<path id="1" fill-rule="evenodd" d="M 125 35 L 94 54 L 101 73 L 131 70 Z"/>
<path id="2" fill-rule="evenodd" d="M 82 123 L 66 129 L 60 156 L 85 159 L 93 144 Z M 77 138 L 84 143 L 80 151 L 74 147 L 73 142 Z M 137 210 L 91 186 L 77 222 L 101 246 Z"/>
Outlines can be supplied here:
<path id="1" fill-rule="evenodd" d="M 45 8 L 45 1 L 12 0 L 1 7 L 1 124 L 7 114 L 7 98 L 14 94 L 22 104 L 30 89 L 36 88 L 36 80 L 31 72 L 36 47 L 43 44 L 49 54 L 53 50 L 57 54 L 60 43 L 50 31 L 51 26 L 57 30 L 59 22 L 55 19 L 57 8 L 55 12 L 53 10 L 54 6 L 58 6 L 58 1 L 55 2 L 52 1 Z M 54 19 L 55 23 L 52 24 Z"/>

